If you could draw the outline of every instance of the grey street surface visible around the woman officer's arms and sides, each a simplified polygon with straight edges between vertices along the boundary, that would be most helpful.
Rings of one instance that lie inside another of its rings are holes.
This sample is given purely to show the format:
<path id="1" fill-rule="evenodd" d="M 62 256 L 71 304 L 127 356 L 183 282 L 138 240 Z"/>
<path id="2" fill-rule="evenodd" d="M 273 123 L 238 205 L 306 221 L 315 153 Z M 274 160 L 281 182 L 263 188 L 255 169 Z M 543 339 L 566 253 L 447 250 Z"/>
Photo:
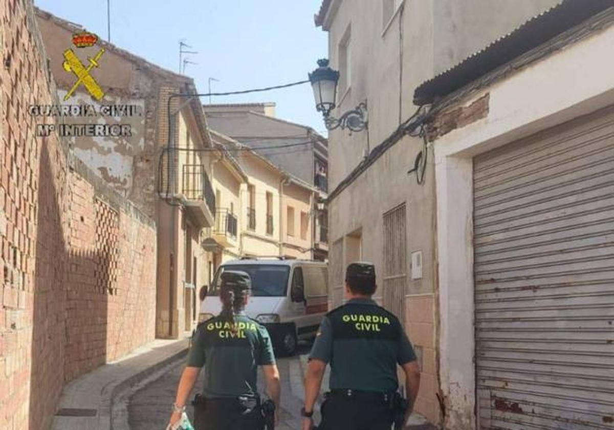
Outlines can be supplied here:
<path id="1" fill-rule="evenodd" d="M 303 402 L 303 381 L 300 354 L 308 353 L 309 345 L 303 345 L 299 354 L 291 358 L 278 359 L 281 377 L 282 411 L 280 424 L 276 429 L 291 430 L 300 428 L 300 408 Z M 179 377 L 184 369 L 185 360 L 177 361 L 160 378 L 136 391 L 128 404 L 128 421 L 131 430 L 163 429 L 168 423 L 170 405 L 173 404 Z M 264 393 L 262 378 L 258 375 L 260 393 Z M 202 387 L 202 375 L 193 393 Z M 192 394 L 193 397 L 193 394 Z M 193 408 L 187 408 L 190 420 Z M 319 416 L 316 417 L 319 422 Z"/>

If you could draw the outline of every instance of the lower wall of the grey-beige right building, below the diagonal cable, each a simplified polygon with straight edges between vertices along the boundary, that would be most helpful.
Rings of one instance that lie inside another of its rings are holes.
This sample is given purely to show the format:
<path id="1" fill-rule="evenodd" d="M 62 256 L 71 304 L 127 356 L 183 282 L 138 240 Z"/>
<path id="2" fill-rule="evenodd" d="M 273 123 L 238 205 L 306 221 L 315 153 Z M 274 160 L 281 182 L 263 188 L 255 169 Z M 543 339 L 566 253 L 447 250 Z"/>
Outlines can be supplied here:
<path id="1" fill-rule="evenodd" d="M 422 383 L 416 410 L 430 421 L 439 420 L 437 369 L 435 359 L 434 298 L 437 294 L 435 264 L 434 165 L 432 151 L 425 184 L 416 184 L 416 176 L 406 172 L 413 166 L 421 141 L 404 138 L 393 146 L 351 186 L 328 205 L 332 243 L 329 284 L 333 287 L 333 306 L 341 304 L 345 267 L 362 259 L 375 264 L 376 300 L 383 301 L 384 235 L 383 216 L 401 203 L 406 204 L 406 331 L 421 356 Z M 357 239 L 355 232 L 360 232 Z M 359 243 L 357 243 L 359 242 Z M 355 250 L 360 247 L 360 253 Z M 410 253 L 422 251 L 422 278 L 411 280 Z"/>

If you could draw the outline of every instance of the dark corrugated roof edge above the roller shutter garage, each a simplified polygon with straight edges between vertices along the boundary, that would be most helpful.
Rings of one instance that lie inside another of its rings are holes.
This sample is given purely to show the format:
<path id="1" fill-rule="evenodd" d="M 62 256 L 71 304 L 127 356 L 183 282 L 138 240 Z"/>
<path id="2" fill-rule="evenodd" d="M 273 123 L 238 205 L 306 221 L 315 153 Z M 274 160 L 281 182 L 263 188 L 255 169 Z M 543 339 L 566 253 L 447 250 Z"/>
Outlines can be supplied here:
<path id="1" fill-rule="evenodd" d="M 614 7 L 614 0 L 563 0 L 423 82 L 414 92 L 414 104 L 432 104 L 610 7 Z"/>

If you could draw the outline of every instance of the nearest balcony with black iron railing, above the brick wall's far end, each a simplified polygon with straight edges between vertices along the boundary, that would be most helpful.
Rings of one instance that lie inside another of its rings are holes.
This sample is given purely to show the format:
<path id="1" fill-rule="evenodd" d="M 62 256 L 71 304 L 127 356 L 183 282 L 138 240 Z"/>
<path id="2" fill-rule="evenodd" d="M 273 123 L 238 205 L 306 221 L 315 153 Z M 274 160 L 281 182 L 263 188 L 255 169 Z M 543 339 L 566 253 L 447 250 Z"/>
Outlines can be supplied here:
<path id="1" fill-rule="evenodd" d="M 214 225 L 216 195 L 202 164 L 184 164 L 182 171 L 182 203 L 188 216 L 198 227 Z"/>

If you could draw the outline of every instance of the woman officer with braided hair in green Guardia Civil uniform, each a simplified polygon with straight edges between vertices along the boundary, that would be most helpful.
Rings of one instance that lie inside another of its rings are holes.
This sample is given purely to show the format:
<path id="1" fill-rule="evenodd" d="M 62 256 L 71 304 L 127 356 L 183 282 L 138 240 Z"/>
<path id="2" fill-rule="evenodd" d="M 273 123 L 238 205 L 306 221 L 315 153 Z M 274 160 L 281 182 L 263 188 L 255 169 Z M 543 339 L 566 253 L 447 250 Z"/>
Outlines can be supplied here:
<path id="1" fill-rule="evenodd" d="M 180 420 L 203 365 L 204 389 L 195 399 L 196 430 L 264 428 L 256 386 L 258 365 L 264 371 L 267 394 L 279 406 L 279 371 L 271 339 L 265 327 L 244 313 L 250 291 L 247 273 L 222 273 L 222 312 L 198 324 L 179 381 L 171 425 Z"/>

